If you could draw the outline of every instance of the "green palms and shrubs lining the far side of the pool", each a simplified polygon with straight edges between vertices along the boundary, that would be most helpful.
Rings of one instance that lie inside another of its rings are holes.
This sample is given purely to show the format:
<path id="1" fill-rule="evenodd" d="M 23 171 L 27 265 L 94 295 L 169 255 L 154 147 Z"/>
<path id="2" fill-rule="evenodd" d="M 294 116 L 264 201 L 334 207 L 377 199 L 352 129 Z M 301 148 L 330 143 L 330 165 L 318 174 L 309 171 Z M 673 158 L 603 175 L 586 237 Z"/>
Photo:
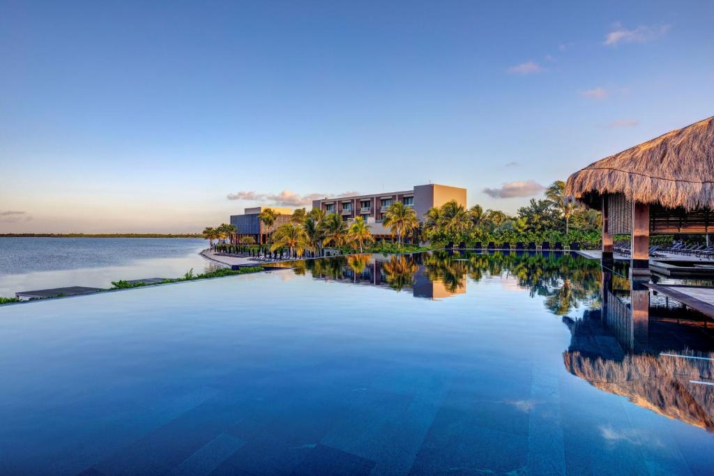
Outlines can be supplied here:
<path id="1" fill-rule="evenodd" d="M 298 208 L 291 220 L 275 228 L 278 213 L 264 209 L 258 219 L 265 227 L 268 247 L 275 251 L 288 248 L 291 254 L 301 255 L 308 250 L 320 254 L 326 246 L 350 248 L 362 253 L 372 250 L 375 238 L 371 226 L 362 217 L 350 223 L 337 213 L 321 209 L 306 211 Z M 553 182 L 542 199 L 531 199 L 528 206 L 518 209 L 515 216 L 500 210 L 479 205 L 471 208 L 450 201 L 431 208 L 420 221 L 411 206 L 396 201 L 384 213 L 382 222 L 393 238 L 397 250 L 406 243 L 417 245 L 430 241 L 435 247 L 447 243 L 511 243 L 548 241 L 550 243 L 581 243 L 596 246 L 600 240 L 600 213 L 585 209 L 573 198 L 565 195 L 565 182 Z M 210 245 L 231 242 L 251 245 L 251 237 L 236 237 L 236 228 L 223 223 L 203 231 Z"/>

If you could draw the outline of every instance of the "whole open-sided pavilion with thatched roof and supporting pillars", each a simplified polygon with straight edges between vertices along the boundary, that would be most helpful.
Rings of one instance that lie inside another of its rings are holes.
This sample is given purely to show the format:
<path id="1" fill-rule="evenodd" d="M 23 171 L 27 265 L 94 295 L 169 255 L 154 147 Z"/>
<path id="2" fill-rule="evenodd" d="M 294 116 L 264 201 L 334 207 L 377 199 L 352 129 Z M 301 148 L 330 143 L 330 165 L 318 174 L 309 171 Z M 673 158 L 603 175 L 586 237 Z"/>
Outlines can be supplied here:
<path id="1" fill-rule="evenodd" d="M 714 226 L 714 117 L 591 163 L 565 193 L 603 213 L 603 260 L 613 235 L 630 234 L 633 273 L 648 273 L 650 234 Z"/>

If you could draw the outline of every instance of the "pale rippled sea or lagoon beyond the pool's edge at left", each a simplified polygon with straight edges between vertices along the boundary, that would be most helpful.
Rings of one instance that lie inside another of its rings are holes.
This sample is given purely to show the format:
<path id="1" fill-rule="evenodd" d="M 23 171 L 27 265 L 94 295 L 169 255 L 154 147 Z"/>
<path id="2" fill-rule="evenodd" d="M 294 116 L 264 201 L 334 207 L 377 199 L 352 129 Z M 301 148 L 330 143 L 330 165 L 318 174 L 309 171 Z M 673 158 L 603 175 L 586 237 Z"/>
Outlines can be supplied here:
<path id="1" fill-rule="evenodd" d="M 0 238 L 0 296 L 211 270 L 203 248 L 200 238 Z"/>

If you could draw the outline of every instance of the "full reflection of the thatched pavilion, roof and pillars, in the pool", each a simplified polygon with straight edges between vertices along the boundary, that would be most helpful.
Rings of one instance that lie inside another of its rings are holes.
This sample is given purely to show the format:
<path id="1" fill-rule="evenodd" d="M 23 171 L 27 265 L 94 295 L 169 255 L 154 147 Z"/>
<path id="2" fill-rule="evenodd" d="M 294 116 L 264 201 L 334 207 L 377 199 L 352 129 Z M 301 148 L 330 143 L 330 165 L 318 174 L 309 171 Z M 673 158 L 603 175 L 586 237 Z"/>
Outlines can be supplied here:
<path id="1" fill-rule="evenodd" d="M 613 285 L 613 283 L 615 283 Z M 624 281 L 624 283 L 627 283 Z M 706 317 L 651 305 L 649 291 L 603 269 L 603 308 L 564 318 L 566 370 L 600 390 L 714 432 L 714 352 Z"/>

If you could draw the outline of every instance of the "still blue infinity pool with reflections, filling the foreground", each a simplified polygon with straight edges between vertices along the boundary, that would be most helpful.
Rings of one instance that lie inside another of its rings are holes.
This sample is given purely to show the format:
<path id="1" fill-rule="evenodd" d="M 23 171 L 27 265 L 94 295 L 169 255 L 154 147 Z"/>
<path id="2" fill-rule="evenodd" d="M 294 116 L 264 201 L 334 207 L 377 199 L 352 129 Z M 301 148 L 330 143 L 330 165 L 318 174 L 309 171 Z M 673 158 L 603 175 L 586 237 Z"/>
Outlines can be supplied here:
<path id="1" fill-rule="evenodd" d="M 0 322 L 4 475 L 714 467 L 713 323 L 579 257 L 362 255 Z"/>

